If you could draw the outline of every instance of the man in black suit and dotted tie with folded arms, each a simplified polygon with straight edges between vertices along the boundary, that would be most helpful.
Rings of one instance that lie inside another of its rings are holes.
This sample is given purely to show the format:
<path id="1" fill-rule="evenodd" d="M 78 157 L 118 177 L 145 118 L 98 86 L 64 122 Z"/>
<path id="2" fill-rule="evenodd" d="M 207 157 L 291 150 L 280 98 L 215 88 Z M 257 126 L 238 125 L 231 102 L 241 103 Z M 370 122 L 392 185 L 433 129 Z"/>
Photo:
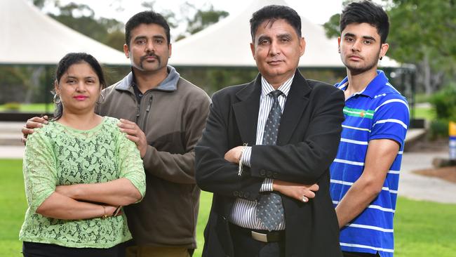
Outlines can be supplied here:
<path id="1" fill-rule="evenodd" d="M 203 256 L 342 256 L 329 166 L 342 91 L 297 70 L 300 16 L 266 6 L 250 20 L 260 74 L 213 95 L 195 147 L 196 183 L 213 192 Z"/>

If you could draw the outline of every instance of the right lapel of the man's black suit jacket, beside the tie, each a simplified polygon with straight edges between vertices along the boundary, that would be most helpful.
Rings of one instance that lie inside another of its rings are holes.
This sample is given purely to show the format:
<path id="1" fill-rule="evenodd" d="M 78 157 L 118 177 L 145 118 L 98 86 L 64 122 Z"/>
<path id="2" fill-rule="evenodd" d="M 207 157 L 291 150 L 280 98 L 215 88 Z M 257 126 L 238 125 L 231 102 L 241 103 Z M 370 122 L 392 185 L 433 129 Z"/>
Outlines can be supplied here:
<path id="1" fill-rule="evenodd" d="M 296 70 L 286 99 L 285 109 L 283 109 L 277 145 L 285 145 L 290 140 L 293 131 L 295 131 L 297 124 L 301 120 L 302 112 L 304 112 L 309 103 L 308 94 L 310 91 L 309 84 L 307 84 L 299 70 Z"/>

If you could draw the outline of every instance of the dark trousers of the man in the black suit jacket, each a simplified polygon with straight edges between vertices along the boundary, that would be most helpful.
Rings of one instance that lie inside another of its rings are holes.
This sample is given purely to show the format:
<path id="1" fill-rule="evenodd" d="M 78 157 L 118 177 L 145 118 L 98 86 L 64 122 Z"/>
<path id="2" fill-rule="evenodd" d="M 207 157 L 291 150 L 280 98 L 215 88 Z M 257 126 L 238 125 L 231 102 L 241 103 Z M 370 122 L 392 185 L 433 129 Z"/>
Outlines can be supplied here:
<path id="1" fill-rule="evenodd" d="M 248 230 L 230 224 L 234 257 L 285 257 L 285 239 L 281 242 L 260 242 Z"/>

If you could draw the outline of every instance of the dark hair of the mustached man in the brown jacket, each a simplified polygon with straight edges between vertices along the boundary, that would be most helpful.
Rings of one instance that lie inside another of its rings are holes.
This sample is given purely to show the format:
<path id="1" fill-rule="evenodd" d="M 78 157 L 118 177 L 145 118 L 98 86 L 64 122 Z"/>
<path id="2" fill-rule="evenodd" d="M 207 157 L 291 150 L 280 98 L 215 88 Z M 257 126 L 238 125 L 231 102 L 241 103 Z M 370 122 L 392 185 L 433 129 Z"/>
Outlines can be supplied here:
<path id="1" fill-rule="evenodd" d="M 161 14 L 155 13 L 154 11 L 143 11 L 141 13 L 136 13 L 133 15 L 133 17 L 130 18 L 130 20 L 128 20 L 125 25 L 125 44 L 127 44 L 128 47 L 130 47 L 131 31 L 141 24 L 160 25 L 163 27 L 163 29 L 165 29 L 166 40 L 168 40 L 168 44 L 171 43 L 170 28 L 165 18 L 163 18 Z"/>

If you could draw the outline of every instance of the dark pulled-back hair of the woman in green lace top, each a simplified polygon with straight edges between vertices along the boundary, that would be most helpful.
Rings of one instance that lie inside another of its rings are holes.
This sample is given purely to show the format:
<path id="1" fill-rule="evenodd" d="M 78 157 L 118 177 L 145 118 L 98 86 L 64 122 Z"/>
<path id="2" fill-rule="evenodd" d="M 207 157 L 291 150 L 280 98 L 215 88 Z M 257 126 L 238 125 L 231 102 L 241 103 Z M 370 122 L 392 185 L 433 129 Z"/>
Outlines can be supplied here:
<path id="1" fill-rule="evenodd" d="M 81 62 L 87 62 L 87 64 L 92 67 L 92 70 L 97 74 L 98 80 L 100 81 L 100 88 L 105 88 L 106 81 L 105 75 L 103 74 L 103 69 L 98 60 L 88 53 L 67 53 L 67 55 L 65 55 L 62 60 L 60 60 L 57 68 L 55 69 L 55 83 L 58 84 L 60 82 L 63 74 L 67 72 L 69 67 Z M 55 121 L 60 119 L 60 117 L 62 117 L 62 112 L 62 102 L 55 104 L 54 117 L 52 120 Z"/>

